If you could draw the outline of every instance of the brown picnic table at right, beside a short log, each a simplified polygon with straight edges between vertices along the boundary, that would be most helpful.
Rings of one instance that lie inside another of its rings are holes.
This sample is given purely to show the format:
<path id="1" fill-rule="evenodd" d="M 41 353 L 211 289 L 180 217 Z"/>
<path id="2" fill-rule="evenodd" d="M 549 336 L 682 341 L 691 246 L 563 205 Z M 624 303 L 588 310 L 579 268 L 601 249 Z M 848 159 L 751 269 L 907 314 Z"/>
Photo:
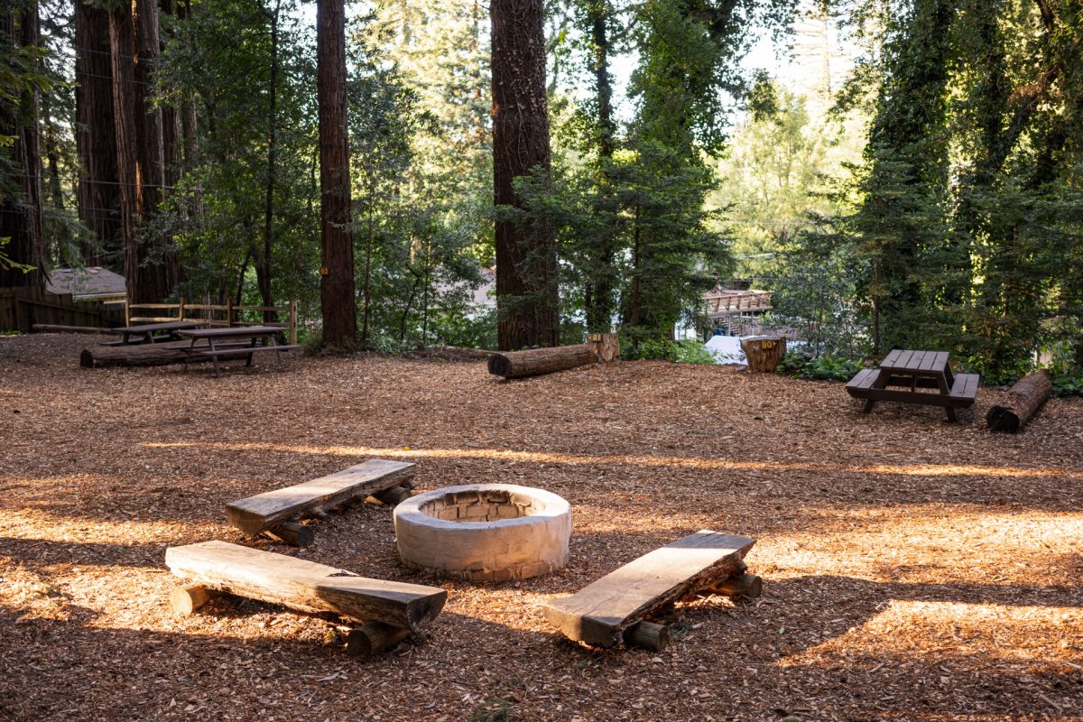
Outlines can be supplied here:
<path id="1" fill-rule="evenodd" d="M 846 391 L 865 401 L 862 409 L 865 413 L 873 410 L 876 402 L 899 402 L 942 406 L 948 420 L 955 421 L 956 408 L 974 405 L 978 375 L 953 373 L 945 351 L 896 349 L 884 357 L 879 368 L 858 371 L 846 384 Z"/>

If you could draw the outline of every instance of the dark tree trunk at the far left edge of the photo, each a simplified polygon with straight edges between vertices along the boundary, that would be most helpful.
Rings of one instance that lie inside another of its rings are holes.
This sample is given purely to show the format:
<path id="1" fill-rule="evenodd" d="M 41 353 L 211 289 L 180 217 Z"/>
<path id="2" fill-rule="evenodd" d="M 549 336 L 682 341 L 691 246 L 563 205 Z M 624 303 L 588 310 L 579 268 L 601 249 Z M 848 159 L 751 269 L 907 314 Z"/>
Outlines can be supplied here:
<path id="1" fill-rule="evenodd" d="M 9 9 L 0 11 L 0 32 L 8 36 L 11 45 L 36 45 L 38 42 L 38 6 L 28 3 L 16 15 Z M 23 93 L 13 106 L 0 106 L 0 135 L 14 137 L 10 148 L 11 166 L 18 180 L 19 194 L 0 196 L 0 238 L 8 245 L 0 252 L 15 263 L 32 266 L 24 273 L 19 268 L 0 267 L 0 287 L 29 286 L 43 288 L 45 284 L 45 246 L 41 223 L 41 144 L 38 136 L 37 91 Z"/>

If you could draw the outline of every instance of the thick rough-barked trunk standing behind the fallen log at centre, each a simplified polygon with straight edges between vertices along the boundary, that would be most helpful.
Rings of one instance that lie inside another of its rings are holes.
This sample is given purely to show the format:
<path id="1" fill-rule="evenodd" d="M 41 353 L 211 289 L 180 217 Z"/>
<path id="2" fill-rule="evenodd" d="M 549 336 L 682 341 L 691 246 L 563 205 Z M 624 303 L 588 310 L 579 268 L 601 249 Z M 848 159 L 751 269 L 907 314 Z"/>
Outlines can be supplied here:
<path id="1" fill-rule="evenodd" d="M 490 4 L 493 70 L 493 195 L 523 208 L 513 180 L 550 163 L 542 0 Z M 503 351 L 560 343 L 551 229 L 496 223 L 497 334 Z"/>

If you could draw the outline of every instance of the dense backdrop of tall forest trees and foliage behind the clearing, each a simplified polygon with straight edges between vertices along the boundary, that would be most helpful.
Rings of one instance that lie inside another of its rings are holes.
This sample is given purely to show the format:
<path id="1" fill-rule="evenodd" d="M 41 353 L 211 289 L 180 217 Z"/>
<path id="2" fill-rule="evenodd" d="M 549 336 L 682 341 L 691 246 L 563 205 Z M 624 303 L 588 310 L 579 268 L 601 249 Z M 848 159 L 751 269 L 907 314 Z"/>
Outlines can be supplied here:
<path id="1" fill-rule="evenodd" d="M 819 355 L 1080 373 L 1081 41 L 1069 0 L 8 0 L 0 287 L 649 355 L 743 278 Z"/>

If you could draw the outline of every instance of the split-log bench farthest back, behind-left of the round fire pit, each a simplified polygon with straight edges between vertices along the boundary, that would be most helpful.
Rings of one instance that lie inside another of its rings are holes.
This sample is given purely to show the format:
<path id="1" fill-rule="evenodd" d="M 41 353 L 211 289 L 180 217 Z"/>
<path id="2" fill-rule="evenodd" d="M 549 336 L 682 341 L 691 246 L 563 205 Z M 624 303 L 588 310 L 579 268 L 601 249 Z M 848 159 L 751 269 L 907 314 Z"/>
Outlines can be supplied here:
<path id="1" fill-rule="evenodd" d="M 410 494 L 415 464 L 369 459 L 349 469 L 225 504 L 230 522 L 249 536 L 266 534 L 298 547 L 312 543 L 313 531 L 296 520 L 323 518 L 349 501 L 375 496 L 396 504 Z"/>

